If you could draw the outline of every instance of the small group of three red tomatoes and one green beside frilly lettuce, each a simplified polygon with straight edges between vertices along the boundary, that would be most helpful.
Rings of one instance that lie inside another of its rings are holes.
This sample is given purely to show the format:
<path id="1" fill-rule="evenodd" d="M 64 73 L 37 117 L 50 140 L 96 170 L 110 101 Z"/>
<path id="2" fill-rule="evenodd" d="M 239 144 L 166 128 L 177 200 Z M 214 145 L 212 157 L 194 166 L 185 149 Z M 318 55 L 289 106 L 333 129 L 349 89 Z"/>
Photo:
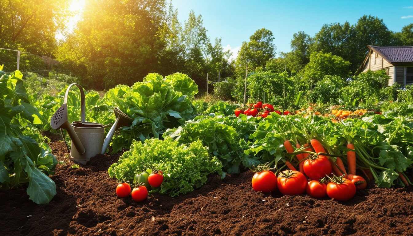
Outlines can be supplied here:
<path id="1" fill-rule="evenodd" d="M 131 186 L 127 183 L 120 183 L 116 186 L 116 195 L 119 198 L 126 198 L 129 195 L 132 195 L 132 199 L 135 202 L 142 202 L 148 197 L 148 188 L 157 188 L 161 186 L 164 181 L 164 176 L 161 170 L 152 172 L 148 174 L 147 172 L 138 173 L 135 175 L 134 182 L 138 183 L 132 189 Z"/>

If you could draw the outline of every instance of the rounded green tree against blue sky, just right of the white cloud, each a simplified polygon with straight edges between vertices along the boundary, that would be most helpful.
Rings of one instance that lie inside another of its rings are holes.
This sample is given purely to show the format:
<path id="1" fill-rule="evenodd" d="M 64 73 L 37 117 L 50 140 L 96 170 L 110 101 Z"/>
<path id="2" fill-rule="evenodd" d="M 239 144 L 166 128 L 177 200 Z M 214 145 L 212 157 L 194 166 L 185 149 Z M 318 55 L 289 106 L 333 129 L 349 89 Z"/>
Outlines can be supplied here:
<path id="1" fill-rule="evenodd" d="M 240 52 L 235 62 L 237 76 L 245 74 L 248 62 L 249 71 L 256 67 L 265 67 L 266 62 L 275 57 L 276 46 L 273 43 L 274 35 L 271 30 L 262 28 L 249 37 L 249 42 L 242 42 Z"/>

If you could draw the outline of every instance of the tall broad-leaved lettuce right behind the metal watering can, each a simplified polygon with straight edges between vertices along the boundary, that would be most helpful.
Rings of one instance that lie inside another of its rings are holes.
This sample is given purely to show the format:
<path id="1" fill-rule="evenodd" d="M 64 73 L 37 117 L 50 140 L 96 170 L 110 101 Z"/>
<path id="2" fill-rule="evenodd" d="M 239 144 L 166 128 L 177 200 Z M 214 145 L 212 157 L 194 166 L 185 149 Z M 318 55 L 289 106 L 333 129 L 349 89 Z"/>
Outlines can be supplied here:
<path id="1" fill-rule="evenodd" d="M 188 82 L 187 76 L 174 75 L 164 79 L 156 73 L 148 74 L 132 87 L 118 85 L 105 94 L 102 103 L 119 107 L 133 119 L 131 127 L 123 127 L 114 136 L 111 145 L 114 152 L 129 147 L 133 139 L 159 138 L 167 128 L 177 127 L 193 117 L 194 107 L 188 96 L 175 89 L 193 94 L 196 84 Z"/>

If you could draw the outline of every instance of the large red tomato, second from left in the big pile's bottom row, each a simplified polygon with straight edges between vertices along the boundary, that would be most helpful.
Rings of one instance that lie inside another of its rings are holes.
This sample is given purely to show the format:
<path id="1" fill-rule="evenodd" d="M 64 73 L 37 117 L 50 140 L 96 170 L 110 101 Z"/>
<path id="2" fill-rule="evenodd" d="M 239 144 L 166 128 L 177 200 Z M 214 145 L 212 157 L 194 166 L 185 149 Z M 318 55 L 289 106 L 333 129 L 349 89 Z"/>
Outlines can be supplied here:
<path id="1" fill-rule="evenodd" d="M 277 177 L 277 186 L 284 195 L 300 195 L 306 191 L 307 178 L 296 170 L 285 170 Z"/>

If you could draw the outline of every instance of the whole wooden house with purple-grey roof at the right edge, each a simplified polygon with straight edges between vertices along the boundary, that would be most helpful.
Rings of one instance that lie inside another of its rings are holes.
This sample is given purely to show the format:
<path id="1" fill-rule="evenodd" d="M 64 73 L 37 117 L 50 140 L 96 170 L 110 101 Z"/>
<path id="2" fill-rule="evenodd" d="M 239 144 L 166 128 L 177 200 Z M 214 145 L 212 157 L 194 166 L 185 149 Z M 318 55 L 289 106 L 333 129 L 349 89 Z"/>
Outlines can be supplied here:
<path id="1" fill-rule="evenodd" d="M 413 46 L 379 47 L 368 45 L 369 51 L 358 72 L 385 69 L 393 83 L 413 84 Z"/>

